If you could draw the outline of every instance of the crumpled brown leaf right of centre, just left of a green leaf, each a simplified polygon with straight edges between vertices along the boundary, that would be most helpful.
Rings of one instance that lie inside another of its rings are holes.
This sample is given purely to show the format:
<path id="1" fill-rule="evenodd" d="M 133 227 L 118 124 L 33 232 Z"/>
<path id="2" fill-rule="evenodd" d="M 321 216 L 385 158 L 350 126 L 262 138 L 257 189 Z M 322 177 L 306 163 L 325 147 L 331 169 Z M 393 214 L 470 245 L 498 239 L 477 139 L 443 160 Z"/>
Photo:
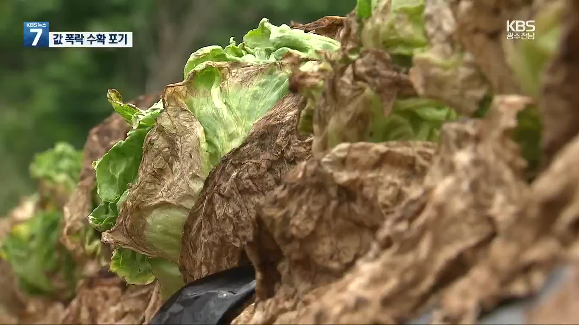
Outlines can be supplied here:
<path id="1" fill-rule="evenodd" d="M 354 61 L 343 55 L 332 54 L 313 71 L 295 69 L 290 78 L 292 89 L 308 99 L 299 130 L 315 135 L 312 152 L 317 158 L 339 143 L 368 141 L 372 123 L 389 115 L 398 97 L 416 95 L 408 75 L 394 67 L 388 53 L 363 50 Z"/>

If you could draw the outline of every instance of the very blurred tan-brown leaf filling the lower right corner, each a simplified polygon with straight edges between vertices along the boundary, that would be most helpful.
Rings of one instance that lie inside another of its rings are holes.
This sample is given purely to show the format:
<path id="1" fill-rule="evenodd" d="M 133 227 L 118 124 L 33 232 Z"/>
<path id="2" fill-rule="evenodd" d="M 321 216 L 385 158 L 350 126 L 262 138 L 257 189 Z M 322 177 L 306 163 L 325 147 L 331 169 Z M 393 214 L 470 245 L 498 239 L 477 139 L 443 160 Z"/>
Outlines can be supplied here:
<path id="1" fill-rule="evenodd" d="M 478 306 L 490 309 L 500 301 L 537 293 L 558 263 L 579 261 L 578 157 L 576 137 L 533 183 L 510 223 L 490 244 L 488 257 L 449 287 L 441 317 L 467 322 Z"/>

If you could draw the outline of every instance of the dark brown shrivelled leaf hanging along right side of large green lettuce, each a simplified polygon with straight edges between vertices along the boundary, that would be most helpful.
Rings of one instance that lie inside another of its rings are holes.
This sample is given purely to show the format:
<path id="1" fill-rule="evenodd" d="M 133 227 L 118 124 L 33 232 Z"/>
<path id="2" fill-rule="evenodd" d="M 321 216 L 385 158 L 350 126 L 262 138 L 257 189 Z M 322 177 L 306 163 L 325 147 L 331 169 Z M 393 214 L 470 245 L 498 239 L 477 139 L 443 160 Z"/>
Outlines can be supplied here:
<path id="1" fill-rule="evenodd" d="M 185 282 L 248 263 L 242 241 L 256 205 L 287 171 L 311 156 L 312 140 L 299 139 L 295 131 L 299 105 L 298 95 L 285 95 L 209 174 L 181 238 L 179 269 Z"/>

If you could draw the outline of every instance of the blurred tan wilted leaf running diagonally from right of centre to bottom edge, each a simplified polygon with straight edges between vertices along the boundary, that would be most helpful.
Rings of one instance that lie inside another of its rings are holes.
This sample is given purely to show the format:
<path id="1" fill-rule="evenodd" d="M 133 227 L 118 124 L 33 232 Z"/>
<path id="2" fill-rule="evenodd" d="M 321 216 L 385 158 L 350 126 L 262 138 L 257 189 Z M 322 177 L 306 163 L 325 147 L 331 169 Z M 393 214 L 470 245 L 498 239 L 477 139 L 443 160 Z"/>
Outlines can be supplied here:
<path id="1" fill-rule="evenodd" d="M 466 274 L 512 226 L 528 192 L 509 136 L 526 102 L 499 97 L 487 120 L 445 124 L 424 188 L 386 218 L 368 254 L 316 302 L 277 322 L 401 323 Z"/>

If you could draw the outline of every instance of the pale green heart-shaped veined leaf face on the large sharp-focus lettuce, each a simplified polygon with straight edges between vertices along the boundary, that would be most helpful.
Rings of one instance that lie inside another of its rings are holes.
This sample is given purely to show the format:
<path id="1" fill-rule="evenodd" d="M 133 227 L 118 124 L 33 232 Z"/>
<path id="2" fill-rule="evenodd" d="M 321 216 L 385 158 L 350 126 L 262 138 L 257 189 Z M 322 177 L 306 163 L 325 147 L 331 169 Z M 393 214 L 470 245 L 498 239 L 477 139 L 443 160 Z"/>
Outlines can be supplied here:
<path id="1" fill-rule="evenodd" d="M 287 69 L 277 64 L 238 68 L 206 62 L 188 79 L 185 103 L 203 125 L 211 165 L 241 144 L 253 123 L 288 93 Z"/>

